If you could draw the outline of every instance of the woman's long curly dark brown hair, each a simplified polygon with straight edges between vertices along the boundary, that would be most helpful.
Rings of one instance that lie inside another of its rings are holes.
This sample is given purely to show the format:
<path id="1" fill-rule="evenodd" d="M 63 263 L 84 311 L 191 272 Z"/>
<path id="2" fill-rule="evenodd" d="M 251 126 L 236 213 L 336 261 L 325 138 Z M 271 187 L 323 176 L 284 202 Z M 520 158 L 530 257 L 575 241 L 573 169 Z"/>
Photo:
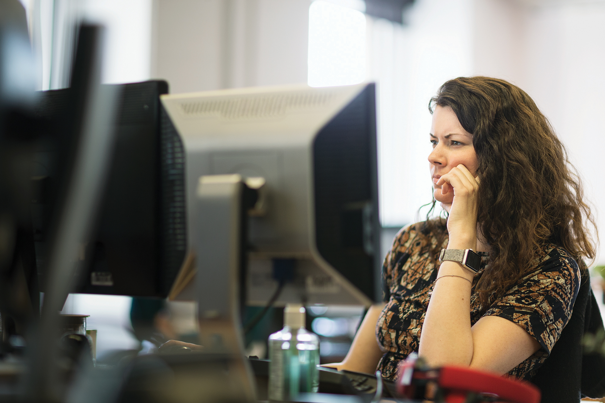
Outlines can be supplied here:
<path id="1" fill-rule="evenodd" d="M 544 243 L 563 247 L 585 270 L 584 258 L 594 260 L 596 248 L 589 227 L 595 235 L 597 227 L 577 171 L 531 97 L 505 80 L 459 77 L 439 88 L 431 113 L 434 105 L 452 108 L 473 134 L 478 232 L 491 247 L 476 286 L 482 306 L 531 268 Z"/>

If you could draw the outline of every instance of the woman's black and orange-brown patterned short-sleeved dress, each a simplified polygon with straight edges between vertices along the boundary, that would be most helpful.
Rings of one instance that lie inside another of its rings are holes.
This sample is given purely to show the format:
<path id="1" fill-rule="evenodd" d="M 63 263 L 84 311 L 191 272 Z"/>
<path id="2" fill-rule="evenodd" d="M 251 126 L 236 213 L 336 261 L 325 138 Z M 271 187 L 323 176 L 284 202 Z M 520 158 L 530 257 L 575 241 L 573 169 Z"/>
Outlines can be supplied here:
<path id="1" fill-rule="evenodd" d="M 386 306 L 376 324 L 376 338 L 386 353 L 377 369 L 388 379 L 396 378 L 399 361 L 418 351 L 430 300 L 428 292 L 439 269 L 439 252 L 431 254 L 431 251 L 440 251 L 448 244 L 445 226 L 433 232 L 422 228 L 422 223 L 418 223 L 399 231 L 382 267 Z M 439 240 L 442 241 L 438 245 Z M 508 375 L 531 379 L 548 358 L 561 330 L 571 318 L 580 289 L 578 264 L 563 248 L 546 244 L 538 251 L 526 274 L 481 315 L 479 295 L 474 289 L 489 256 L 480 255 L 482 265 L 475 275 L 471 295 L 471 325 L 482 316 L 492 315 L 523 327 L 540 343 L 541 349 Z"/>

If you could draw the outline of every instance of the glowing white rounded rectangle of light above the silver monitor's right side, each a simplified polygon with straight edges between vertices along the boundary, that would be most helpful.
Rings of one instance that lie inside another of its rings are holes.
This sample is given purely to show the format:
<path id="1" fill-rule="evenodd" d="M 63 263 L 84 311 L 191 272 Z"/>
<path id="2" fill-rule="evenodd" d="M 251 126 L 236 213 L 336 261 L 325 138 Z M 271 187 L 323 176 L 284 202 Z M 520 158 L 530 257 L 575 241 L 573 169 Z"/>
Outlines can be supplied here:
<path id="1" fill-rule="evenodd" d="M 332 2 L 313 2 L 309 7 L 309 85 L 351 85 L 364 79 L 364 13 Z"/>

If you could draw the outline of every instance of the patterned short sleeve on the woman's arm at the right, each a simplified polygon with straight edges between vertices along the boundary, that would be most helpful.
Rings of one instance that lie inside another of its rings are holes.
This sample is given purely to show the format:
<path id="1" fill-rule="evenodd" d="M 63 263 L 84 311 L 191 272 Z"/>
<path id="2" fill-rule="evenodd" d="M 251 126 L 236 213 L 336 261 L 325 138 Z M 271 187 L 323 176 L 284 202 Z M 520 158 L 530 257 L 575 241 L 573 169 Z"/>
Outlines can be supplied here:
<path id="1" fill-rule="evenodd" d="M 580 289 L 580 269 L 560 247 L 547 249 L 537 269 L 521 278 L 483 316 L 500 316 L 523 327 L 542 347 L 545 358 L 571 318 Z"/>

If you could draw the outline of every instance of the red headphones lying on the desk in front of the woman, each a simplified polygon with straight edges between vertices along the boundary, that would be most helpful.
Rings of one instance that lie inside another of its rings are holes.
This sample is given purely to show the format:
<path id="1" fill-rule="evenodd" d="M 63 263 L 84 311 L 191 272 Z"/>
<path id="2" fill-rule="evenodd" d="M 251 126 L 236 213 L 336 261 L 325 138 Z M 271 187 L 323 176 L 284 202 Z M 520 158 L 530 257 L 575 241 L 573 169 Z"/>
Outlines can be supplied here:
<path id="1" fill-rule="evenodd" d="M 469 395 L 477 395 L 472 401 L 540 403 L 540 390 L 529 382 L 465 367 L 427 369 L 417 364 L 416 359 L 410 359 L 399 365 L 397 392 L 401 396 L 417 398 L 419 396 L 414 396 L 417 387 L 433 381 L 439 388 L 435 396 L 436 402 L 464 403 L 468 401 Z M 486 399 L 482 399 L 480 394 L 486 394 Z"/>

